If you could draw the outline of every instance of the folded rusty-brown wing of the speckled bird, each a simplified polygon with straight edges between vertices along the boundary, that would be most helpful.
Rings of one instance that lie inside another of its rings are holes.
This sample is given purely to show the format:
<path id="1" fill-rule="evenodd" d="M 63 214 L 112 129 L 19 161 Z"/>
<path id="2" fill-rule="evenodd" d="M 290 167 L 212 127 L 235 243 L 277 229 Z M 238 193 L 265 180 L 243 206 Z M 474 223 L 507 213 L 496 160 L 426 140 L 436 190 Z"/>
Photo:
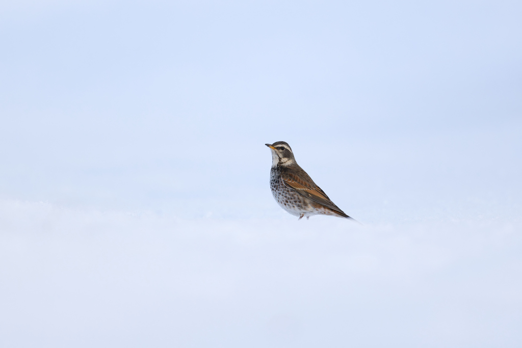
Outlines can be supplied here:
<path id="1" fill-rule="evenodd" d="M 332 202 L 324 191 L 312 181 L 312 178 L 306 174 L 304 170 L 292 169 L 292 171 L 284 170 L 281 172 L 281 179 L 285 186 L 293 189 L 301 196 L 309 198 L 322 206 L 334 210 L 339 215 L 348 218 L 341 209 L 339 209 L 334 202 Z"/>

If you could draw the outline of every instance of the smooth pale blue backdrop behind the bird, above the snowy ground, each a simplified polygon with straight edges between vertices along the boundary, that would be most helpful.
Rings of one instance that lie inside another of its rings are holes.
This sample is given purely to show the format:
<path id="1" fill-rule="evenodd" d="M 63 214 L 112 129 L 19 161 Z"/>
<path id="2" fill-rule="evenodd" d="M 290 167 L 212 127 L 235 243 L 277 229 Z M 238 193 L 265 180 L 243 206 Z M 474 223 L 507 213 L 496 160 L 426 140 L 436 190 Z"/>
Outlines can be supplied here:
<path id="1" fill-rule="evenodd" d="M 5 198 L 169 211 L 265 192 L 250 214 L 273 206 L 277 140 L 365 220 L 383 196 L 520 194 L 517 2 L 4 6 Z"/>

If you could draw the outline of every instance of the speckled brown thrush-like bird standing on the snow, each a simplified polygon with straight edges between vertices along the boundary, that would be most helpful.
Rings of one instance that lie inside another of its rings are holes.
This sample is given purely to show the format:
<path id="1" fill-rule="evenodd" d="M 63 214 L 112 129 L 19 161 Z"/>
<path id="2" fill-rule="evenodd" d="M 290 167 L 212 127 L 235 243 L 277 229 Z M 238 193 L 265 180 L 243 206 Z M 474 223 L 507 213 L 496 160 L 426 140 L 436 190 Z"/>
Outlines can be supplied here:
<path id="1" fill-rule="evenodd" d="M 287 142 L 276 141 L 265 145 L 272 151 L 270 188 L 281 208 L 299 217 L 298 220 L 303 217 L 308 220 L 312 215 L 333 215 L 357 221 L 339 209 L 295 162 Z"/>

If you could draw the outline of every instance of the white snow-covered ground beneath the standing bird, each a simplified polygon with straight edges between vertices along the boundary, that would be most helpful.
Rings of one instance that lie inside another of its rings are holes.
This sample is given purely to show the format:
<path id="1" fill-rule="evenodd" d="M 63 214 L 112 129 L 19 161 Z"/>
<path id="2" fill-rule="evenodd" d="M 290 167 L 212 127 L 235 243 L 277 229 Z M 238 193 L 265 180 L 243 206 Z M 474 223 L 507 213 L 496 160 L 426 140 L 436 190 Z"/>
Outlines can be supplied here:
<path id="1" fill-rule="evenodd" d="M 5 347 L 516 347 L 522 221 L 183 220 L 2 201 Z"/>

